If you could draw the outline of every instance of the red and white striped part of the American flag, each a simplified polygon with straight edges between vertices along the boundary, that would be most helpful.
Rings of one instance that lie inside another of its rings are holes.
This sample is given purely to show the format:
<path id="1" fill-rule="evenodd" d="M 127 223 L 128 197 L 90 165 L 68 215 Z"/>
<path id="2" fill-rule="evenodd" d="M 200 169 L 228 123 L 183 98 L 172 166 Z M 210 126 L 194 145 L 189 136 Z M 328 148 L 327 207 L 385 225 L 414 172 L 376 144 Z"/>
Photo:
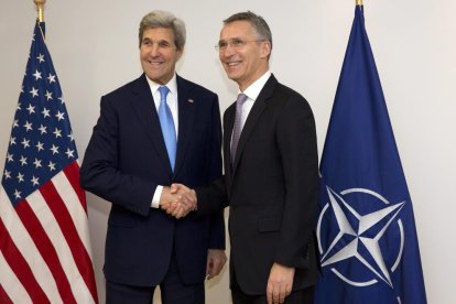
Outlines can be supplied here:
<path id="1" fill-rule="evenodd" d="M 79 165 L 19 203 L 0 188 L 0 303 L 98 303 Z"/>

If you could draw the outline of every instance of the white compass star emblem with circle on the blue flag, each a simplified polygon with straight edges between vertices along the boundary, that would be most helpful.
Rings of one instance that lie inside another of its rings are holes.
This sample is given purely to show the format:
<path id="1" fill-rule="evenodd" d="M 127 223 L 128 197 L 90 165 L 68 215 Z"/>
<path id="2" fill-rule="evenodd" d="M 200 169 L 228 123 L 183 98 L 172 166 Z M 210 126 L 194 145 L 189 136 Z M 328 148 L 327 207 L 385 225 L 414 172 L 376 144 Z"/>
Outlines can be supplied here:
<path id="1" fill-rule="evenodd" d="M 386 283 L 394 289 L 391 276 L 404 247 L 399 215 L 405 202 L 390 204 L 366 188 L 326 191 L 317 224 L 322 268 L 356 287 Z"/>

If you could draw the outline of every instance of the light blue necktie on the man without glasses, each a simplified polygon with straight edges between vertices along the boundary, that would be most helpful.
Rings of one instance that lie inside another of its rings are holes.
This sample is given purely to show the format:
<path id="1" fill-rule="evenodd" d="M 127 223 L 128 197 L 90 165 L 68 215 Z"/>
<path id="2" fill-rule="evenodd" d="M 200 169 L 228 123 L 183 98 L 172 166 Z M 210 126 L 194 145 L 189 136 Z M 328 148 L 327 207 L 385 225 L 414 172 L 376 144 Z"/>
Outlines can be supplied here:
<path id="1" fill-rule="evenodd" d="M 173 115 L 166 104 L 166 95 L 170 89 L 166 86 L 161 86 L 160 91 L 160 106 L 159 106 L 159 119 L 162 126 L 163 139 L 165 141 L 167 156 L 170 158 L 171 167 L 174 171 L 174 162 L 176 159 L 176 129 L 174 128 Z"/>

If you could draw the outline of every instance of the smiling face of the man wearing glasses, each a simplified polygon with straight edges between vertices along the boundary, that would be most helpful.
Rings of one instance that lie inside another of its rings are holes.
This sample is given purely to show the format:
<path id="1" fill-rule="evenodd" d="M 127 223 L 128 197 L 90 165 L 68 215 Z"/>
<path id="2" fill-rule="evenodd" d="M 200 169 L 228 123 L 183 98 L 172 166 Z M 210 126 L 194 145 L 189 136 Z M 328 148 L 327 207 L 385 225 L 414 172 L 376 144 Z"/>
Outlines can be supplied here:
<path id="1" fill-rule="evenodd" d="M 219 58 L 228 77 L 241 90 L 260 78 L 268 69 L 271 45 L 258 40 L 253 26 L 248 21 L 235 21 L 220 31 Z"/>

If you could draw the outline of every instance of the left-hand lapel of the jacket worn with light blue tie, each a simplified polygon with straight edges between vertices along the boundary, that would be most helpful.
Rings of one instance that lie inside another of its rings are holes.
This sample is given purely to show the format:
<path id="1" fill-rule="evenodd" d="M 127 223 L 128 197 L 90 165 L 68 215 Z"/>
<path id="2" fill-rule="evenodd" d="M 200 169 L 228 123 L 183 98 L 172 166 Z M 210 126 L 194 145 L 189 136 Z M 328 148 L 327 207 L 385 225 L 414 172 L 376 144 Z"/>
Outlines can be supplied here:
<path id="1" fill-rule="evenodd" d="M 159 154 L 160 159 L 162 159 L 162 163 L 165 164 L 171 173 L 171 164 L 163 140 L 159 113 L 156 112 L 151 88 L 144 74 L 133 83 L 132 95 L 134 98 L 131 105 L 138 116 L 138 119 L 144 126 L 144 133 L 151 141 L 152 146 Z"/>

